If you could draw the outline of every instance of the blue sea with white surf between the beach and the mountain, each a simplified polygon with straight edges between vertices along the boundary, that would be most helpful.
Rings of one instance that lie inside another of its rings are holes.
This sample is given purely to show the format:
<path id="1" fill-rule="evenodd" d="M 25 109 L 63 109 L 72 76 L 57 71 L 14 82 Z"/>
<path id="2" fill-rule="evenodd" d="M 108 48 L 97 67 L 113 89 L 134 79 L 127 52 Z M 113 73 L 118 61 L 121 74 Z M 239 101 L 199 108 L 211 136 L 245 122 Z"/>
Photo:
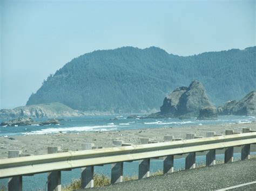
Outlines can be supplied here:
<path id="1" fill-rule="evenodd" d="M 129 129 L 164 128 L 190 125 L 213 125 L 223 123 L 251 123 L 256 120 L 253 116 L 220 116 L 215 121 L 197 121 L 196 118 L 180 120 L 178 118 L 165 119 L 129 119 L 127 116 L 84 116 L 65 117 L 58 125 L 29 125 L 29 126 L 0 126 L 0 137 L 23 136 L 31 134 L 67 133 L 81 131 L 113 131 Z M 44 121 L 44 119 L 35 119 Z M 0 119 L 0 123 L 3 119 Z"/>

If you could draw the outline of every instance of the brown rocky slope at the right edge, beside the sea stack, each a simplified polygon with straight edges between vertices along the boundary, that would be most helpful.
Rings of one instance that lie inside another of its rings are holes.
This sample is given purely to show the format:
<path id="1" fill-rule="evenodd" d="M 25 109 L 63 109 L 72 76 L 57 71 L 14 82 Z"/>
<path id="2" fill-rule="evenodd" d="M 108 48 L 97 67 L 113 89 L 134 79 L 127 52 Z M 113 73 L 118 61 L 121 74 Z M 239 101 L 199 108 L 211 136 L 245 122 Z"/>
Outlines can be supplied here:
<path id="1" fill-rule="evenodd" d="M 248 93 L 240 101 L 228 101 L 220 106 L 218 114 L 256 116 L 256 90 Z"/>

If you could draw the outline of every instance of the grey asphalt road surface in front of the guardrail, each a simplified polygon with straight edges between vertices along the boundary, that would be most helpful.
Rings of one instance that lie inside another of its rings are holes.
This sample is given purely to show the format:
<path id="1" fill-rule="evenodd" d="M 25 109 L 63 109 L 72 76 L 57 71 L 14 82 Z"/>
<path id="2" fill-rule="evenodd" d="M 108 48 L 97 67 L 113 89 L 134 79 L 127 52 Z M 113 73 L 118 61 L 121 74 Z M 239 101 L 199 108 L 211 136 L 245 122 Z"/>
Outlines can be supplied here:
<path id="1" fill-rule="evenodd" d="M 256 181 L 256 159 L 152 176 L 93 190 L 218 190 Z M 232 190 L 256 190 L 256 183 Z"/>

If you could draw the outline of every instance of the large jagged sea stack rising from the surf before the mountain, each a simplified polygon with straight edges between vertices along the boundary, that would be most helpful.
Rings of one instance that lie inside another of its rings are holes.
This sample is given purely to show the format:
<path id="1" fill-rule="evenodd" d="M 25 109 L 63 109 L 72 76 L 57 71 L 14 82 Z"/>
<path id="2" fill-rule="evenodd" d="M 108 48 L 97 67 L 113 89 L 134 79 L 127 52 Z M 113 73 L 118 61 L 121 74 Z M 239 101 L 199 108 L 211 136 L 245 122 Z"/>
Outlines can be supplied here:
<path id="1" fill-rule="evenodd" d="M 160 112 L 151 114 L 150 118 L 179 117 L 190 118 L 198 117 L 199 111 L 203 108 L 215 107 L 209 101 L 204 86 L 198 81 L 191 82 L 189 87 L 179 87 L 164 98 L 164 103 L 160 107 Z M 212 112 L 215 117 L 214 112 Z M 208 112 L 210 117 L 211 112 Z"/>

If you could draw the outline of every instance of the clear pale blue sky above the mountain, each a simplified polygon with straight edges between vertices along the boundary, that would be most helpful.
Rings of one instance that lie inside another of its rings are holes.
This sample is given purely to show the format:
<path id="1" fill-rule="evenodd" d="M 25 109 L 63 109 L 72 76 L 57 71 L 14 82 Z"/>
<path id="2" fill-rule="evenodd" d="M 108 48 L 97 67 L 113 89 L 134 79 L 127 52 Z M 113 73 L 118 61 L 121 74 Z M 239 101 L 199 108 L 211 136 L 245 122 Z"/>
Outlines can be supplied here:
<path id="1" fill-rule="evenodd" d="M 25 105 L 50 74 L 97 49 L 255 46 L 255 2 L 0 0 L 0 109 Z"/>

